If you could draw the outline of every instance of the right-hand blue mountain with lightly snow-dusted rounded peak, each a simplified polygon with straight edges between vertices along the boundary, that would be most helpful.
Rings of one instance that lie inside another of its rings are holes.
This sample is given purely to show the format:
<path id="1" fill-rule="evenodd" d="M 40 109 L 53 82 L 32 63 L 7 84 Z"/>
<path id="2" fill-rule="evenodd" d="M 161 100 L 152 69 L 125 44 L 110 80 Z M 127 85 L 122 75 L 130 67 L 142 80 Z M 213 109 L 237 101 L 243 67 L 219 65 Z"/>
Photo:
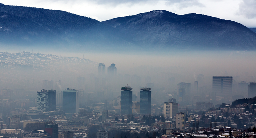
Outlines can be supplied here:
<path id="1" fill-rule="evenodd" d="M 103 21 L 139 46 L 177 49 L 255 50 L 256 33 L 240 23 L 165 10 Z"/>

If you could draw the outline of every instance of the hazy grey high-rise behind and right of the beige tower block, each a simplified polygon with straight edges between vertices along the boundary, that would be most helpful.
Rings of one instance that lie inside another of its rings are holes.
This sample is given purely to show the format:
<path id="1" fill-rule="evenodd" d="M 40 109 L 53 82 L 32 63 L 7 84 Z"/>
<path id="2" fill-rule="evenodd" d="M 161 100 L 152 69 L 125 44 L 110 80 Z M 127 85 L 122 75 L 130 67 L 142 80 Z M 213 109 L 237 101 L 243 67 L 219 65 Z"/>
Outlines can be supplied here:
<path id="1" fill-rule="evenodd" d="M 179 101 L 185 101 L 190 95 L 190 83 L 181 82 L 177 84 L 179 91 Z"/>

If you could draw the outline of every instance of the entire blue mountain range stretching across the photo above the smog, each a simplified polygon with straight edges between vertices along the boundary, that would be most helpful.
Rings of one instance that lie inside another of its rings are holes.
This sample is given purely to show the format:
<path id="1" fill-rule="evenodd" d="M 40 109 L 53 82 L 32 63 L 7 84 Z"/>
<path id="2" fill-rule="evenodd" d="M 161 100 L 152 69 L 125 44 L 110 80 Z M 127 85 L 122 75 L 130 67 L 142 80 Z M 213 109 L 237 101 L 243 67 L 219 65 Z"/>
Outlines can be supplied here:
<path id="1" fill-rule="evenodd" d="M 0 4 L 0 47 L 83 50 L 255 50 L 242 24 L 164 10 L 99 22 L 60 10 Z"/>

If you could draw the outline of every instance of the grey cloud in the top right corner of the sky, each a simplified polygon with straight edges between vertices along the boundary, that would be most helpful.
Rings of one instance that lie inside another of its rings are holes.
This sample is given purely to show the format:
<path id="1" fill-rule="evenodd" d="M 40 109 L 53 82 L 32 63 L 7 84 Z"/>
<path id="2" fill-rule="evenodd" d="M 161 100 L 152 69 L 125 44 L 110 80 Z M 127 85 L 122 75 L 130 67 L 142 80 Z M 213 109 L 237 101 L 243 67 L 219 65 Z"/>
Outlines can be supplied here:
<path id="1" fill-rule="evenodd" d="M 255 0 L 242 0 L 239 4 L 238 15 L 244 15 L 248 19 L 256 17 L 256 1 Z"/>

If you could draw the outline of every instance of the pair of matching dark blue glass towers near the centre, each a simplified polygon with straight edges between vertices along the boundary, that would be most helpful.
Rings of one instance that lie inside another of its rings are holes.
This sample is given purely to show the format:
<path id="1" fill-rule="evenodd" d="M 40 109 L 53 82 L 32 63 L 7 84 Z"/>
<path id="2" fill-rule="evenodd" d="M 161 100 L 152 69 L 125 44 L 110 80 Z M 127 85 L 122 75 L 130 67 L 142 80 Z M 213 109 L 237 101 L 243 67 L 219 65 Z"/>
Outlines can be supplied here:
<path id="1" fill-rule="evenodd" d="M 133 91 L 132 87 L 121 88 L 121 115 L 133 114 Z M 140 91 L 140 114 L 151 114 L 151 88 L 141 88 Z"/>

